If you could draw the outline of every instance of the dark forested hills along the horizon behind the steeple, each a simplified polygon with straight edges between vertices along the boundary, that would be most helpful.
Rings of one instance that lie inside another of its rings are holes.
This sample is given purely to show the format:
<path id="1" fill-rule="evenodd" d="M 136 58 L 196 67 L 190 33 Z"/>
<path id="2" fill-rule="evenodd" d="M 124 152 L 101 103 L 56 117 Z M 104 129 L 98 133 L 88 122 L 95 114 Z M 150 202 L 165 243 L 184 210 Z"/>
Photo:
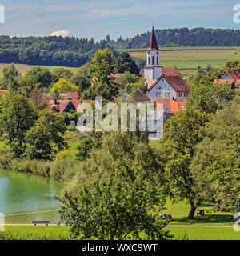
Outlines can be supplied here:
<path id="1" fill-rule="evenodd" d="M 240 30 L 188 28 L 155 30 L 159 46 L 240 46 Z M 109 36 L 94 39 L 62 37 L 10 38 L 0 36 L 0 62 L 48 66 L 82 66 L 95 50 L 146 48 L 150 32 L 134 38 L 111 40 Z M 118 52 L 114 52 L 118 56 Z"/>

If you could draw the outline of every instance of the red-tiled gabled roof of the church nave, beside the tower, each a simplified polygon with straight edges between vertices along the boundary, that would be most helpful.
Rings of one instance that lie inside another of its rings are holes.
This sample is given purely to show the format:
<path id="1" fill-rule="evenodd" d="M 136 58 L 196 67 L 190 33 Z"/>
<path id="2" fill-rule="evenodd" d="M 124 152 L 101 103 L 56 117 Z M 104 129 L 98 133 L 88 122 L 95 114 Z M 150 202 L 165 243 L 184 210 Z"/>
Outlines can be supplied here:
<path id="1" fill-rule="evenodd" d="M 152 86 L 150 86 L 148 91 L 152 90 L 152 88 L 154 88 L 154 86 L 156 86 L 157 83 L 162 78 L 166 79 L 166 82 L 168 82 L 170 84 L 170 86 L 172 86 L 174 88 L 174 90 L 177 92 L 189 92 L 190 91 L 190 87 L 187 85 L 187 83 L 183 80 L 182 77 L 180 77 L 180 76 L 165 76 L 165 75 L 162 75 L 160 78 L 158 78 L 158 80 L 156 80 L 152 84 Z"/>

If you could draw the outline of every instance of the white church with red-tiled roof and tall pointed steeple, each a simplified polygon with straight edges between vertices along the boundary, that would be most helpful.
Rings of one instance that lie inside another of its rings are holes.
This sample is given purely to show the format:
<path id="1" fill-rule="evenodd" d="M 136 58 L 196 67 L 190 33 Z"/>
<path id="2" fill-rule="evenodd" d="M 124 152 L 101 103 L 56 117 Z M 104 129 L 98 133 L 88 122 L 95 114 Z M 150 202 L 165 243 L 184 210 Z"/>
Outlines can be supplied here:
<path id="1" fill-rule="evenodd" d="M 190 87 L 182 78 L 182 74 L 176 68 L 163 68 L 160 64 L 160 50 L 153 27 L 144 68 L 148 97 L 152 101 L 160 98 L 172 100 L 186 98 L 190 93 Z"/>

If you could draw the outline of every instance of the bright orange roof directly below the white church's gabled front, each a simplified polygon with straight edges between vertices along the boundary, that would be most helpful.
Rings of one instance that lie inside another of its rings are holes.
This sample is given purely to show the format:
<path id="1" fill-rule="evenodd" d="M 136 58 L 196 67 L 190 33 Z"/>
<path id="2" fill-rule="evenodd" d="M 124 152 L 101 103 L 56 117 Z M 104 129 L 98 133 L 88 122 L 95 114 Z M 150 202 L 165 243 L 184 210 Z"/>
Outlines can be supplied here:
<path id="1" fill-rule="evenodd" d="M 163 104 L 163 105 L 162 105 Z M 186 110 L 186 99 L 158 98 L 155 101 L 156 110 L 162 110 L 169 114 Z"/>

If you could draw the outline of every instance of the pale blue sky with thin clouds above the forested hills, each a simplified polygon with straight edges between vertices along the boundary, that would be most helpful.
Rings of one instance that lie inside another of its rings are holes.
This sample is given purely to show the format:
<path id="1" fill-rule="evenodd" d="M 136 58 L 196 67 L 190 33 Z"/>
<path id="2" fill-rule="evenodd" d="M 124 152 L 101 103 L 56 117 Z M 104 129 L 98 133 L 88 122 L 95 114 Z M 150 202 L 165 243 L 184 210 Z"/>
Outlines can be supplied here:
<path id="1" fill-rule="evenodd" d="M 0 0 L 6 22 L 0 34 L 50 35 L 68 30 L 70 36 L 99 40 L 133 37 L 151 29 L 210 27 L 240 29 L 234 5 L 240 0 Z"/>

